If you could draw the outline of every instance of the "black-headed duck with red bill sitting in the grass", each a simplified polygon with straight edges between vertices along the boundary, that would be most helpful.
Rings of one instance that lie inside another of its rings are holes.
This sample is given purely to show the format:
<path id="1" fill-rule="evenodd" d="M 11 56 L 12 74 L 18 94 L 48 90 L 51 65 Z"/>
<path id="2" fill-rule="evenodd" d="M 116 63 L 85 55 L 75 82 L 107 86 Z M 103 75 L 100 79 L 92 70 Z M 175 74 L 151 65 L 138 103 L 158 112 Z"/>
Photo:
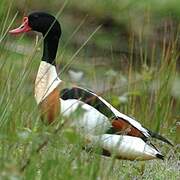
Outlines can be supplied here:
<path id="1" fill-rule="evenodd" d="M 29 31 L 43 36 L 43 55 L 37 72 L 34 97 L 43 121 L 51 124 L 58 116 L 70 116 L 80 108 L 82 114 L 73 126 L 84 138 L 85 147 L 99 147 L 101 154 L 125 160 L 164 159 L 150 141 L 156 138 L 169 145 L 168 139 L 145 128 L 135 118 L 125 115 L 93 91 L 79 86 L 66 86 L 56 69 L 56 54 L 61 37 L 58 19 L 46 12 L 32 12 L 22 24 L 9 33 Z"/>

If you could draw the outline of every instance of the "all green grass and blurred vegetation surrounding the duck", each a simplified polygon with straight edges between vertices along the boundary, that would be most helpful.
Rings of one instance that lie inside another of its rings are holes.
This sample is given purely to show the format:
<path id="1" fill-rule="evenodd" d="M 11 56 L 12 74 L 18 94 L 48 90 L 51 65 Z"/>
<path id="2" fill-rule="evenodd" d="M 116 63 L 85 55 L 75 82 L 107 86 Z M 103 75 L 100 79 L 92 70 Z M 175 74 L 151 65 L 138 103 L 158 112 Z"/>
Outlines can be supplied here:
<path id="1" fill-rule="evenodd" d="M 1 0 L 0 179 L 178 179 L 179 8 L 178 0 Z M 24 13 L 39 9 L 58 15 L 62 24 L 61 78 L 72 81 L 69 69 L 83 71 L 78 85 L 170 139 L 173 148 L 155 142 L 164 161 L 85 152 L 83 139 L 66 123 L 70 119 L 41 122 L 33 97 L 41 41 L 34 33 L 7 34 Z"/>

